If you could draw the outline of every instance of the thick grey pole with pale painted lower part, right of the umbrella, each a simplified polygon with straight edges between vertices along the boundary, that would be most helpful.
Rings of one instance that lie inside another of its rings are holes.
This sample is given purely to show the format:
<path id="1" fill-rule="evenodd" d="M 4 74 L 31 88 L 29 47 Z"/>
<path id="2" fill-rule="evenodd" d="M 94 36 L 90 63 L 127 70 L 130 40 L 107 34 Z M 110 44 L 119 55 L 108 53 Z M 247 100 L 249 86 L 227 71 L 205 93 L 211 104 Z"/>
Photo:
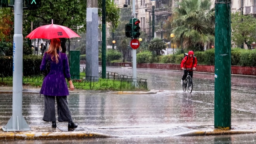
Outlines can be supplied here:
<path id="1" fill-rule="evenodd" d="M 98 77 L 98 0 L 87 0 L 86 8 L 86 80 Z"/>

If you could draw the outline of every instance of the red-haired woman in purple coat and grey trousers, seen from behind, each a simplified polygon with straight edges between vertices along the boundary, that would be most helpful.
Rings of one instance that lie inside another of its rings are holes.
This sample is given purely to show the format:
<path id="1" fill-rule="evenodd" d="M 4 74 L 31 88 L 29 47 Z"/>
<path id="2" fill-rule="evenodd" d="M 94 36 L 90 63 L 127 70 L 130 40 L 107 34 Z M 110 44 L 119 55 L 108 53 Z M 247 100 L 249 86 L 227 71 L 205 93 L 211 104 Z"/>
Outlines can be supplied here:
<path id="1" fill-rule="evenodd" d="M 47 60 L 46 60 L 47 58 Z M 68 106 L 67 96 L 69 95 L 68 80 L 70 90 L 74 90 L 72 84 L 67 55 L 61 52 L 60 39 L 51 40 L 50 48 L 45 52 L 40 70 L 46 69 L 47 61 L 50 62 L 50 72 L 45 76 L 40 94 L 44 94 L 44 117 L 46 122 L 52 122 L 52 128 L 56 128 L 55 97 L 58 108 L 58 121 L 68 122 L 68 128 L 77 128 L 74 124 Z"/>

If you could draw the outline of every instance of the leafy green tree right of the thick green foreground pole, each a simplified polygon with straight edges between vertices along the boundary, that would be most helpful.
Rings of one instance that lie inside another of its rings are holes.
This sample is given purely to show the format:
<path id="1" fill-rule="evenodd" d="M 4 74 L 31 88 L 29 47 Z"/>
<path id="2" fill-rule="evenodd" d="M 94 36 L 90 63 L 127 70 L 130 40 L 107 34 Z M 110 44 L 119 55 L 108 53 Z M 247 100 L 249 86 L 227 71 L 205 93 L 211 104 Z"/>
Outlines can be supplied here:
<path id="1" fill-rule="evenodd" d="M 236 12 L 231 14 L 231 21 L 232 41 L 237 46 L 245 43 L 251 49 L 252 42 L 256 41 L 256 19 Z"/>

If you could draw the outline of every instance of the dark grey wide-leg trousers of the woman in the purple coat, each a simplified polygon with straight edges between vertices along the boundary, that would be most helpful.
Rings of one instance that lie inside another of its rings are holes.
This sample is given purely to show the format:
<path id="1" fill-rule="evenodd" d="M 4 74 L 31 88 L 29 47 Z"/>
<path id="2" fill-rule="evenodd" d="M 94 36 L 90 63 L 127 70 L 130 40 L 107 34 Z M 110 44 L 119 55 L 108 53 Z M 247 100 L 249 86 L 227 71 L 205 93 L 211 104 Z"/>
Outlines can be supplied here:
<path id="1" fill-rule="evenodd" d="M 46 96 L 44 95 L 44 117 L 46 122 L 56 122 L 55 97 L 57 101 L 58 121 L 71 122 L 72 117 L 68 107 L 67 96 Z"/>

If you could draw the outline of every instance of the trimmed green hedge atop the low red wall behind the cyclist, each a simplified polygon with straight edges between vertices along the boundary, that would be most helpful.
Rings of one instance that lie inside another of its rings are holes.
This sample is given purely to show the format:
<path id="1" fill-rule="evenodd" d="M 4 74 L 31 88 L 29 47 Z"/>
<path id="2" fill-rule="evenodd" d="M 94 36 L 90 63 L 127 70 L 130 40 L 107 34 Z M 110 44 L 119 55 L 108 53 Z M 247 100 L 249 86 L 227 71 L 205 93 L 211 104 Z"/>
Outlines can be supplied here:
<path id="1" fill-rule="evenodd" d="M 215 49 L 206 50 L 204 52 L 194 52 L 197 62 L 200 65 L 215 64 Z M 168 54 L 155 57 L 152 52 L 145 51 L 137 54 L 137 63 L 160 62 L 164 64 L 180 64 L 184 54 Z M 256 66 L 256 50 L 245 50 L 241 48 L 231 49 L 231 65 L 232 66 Z"/>

